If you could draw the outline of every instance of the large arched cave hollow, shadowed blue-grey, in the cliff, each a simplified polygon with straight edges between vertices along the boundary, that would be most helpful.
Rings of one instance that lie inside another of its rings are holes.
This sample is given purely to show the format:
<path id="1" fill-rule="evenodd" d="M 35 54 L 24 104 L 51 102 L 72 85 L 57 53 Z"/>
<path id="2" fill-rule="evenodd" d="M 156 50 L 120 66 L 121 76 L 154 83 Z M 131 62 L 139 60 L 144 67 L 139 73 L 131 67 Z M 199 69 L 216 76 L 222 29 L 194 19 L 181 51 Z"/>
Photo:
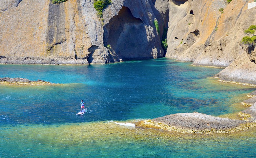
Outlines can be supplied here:
<path id="1" fill-rule="evenodd" d="M 134 17 L 129 8 L 122 7 L 103 27 L 104 46 L 114 50 L 122 60 L 153 58 L 152 54 L 145 55 L 149 52 L 145 28 L 143 21 Z"/>

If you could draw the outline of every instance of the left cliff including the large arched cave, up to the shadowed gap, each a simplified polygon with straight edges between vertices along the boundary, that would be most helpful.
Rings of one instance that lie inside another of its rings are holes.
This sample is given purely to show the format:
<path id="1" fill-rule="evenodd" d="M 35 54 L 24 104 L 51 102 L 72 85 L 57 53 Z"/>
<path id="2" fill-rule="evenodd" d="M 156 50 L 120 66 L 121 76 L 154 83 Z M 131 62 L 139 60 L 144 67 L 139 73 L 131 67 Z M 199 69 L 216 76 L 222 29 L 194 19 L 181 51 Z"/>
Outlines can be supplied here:
<path id="1" fill-rule="evenodd" d="M 0 17 L 0 63 L 109 63 L 164 53 L 154 25 L 162 16 L 151 0 L 113 0 L 104 22 L 93 0 L 1 0 Z"/>

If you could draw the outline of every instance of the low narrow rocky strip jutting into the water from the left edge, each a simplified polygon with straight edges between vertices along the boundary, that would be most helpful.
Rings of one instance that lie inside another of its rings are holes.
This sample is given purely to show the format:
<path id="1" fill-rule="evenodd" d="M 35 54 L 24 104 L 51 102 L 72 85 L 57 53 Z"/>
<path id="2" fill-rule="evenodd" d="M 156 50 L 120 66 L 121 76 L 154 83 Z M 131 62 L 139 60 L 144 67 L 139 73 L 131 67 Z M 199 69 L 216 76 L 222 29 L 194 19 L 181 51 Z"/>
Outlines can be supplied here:
<path id="1" fill-rule="evenodd" d="M 4 85 L 53 85 L 51 82 L 44 80 L 31 81 L 26 78 L 0 78 L 0 84 Z"/>

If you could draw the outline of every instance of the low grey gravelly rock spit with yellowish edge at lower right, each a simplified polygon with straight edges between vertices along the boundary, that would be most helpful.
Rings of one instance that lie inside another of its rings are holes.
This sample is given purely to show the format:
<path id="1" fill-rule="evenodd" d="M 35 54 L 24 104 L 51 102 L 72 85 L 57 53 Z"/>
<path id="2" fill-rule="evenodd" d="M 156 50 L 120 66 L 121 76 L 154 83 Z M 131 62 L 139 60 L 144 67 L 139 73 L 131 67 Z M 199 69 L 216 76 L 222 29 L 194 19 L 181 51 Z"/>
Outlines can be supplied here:
<path id="1" fill-rule="evenodd" d="M 253 96 L 256 91 L 250 95 Z M 177 113 L 142 120 L 136 123 L 139 128 L 155 128 L 179 133 L 230 133 L 256 127 L 256 97 L 242 102 L 250 106 L 239 112 L 240 120 L 215 117 L 203 113 Z"/>

